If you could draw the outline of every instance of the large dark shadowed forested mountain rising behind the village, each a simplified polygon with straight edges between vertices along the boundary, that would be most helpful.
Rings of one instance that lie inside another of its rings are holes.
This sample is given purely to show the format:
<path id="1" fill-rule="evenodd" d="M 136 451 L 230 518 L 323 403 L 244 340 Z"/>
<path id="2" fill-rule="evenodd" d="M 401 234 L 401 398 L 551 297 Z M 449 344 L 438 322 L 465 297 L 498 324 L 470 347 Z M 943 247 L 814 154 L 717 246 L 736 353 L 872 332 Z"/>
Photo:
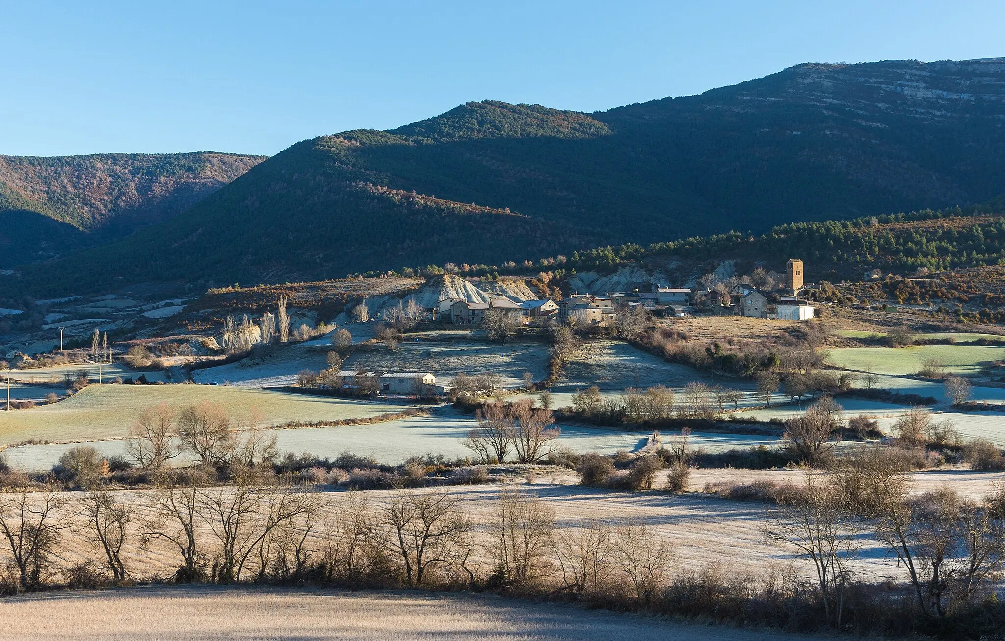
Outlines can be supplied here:
<path id="1" fill-rule="evenodd" d="M 501 264 L 1003 193 L 1005 58 L 802 64 L 592 114 L 470 102 L 390 131 L 305 140 L 164 223 L 21 268 L 19 282 L 55 291 L 73 279 L 254 283 Z"/>

